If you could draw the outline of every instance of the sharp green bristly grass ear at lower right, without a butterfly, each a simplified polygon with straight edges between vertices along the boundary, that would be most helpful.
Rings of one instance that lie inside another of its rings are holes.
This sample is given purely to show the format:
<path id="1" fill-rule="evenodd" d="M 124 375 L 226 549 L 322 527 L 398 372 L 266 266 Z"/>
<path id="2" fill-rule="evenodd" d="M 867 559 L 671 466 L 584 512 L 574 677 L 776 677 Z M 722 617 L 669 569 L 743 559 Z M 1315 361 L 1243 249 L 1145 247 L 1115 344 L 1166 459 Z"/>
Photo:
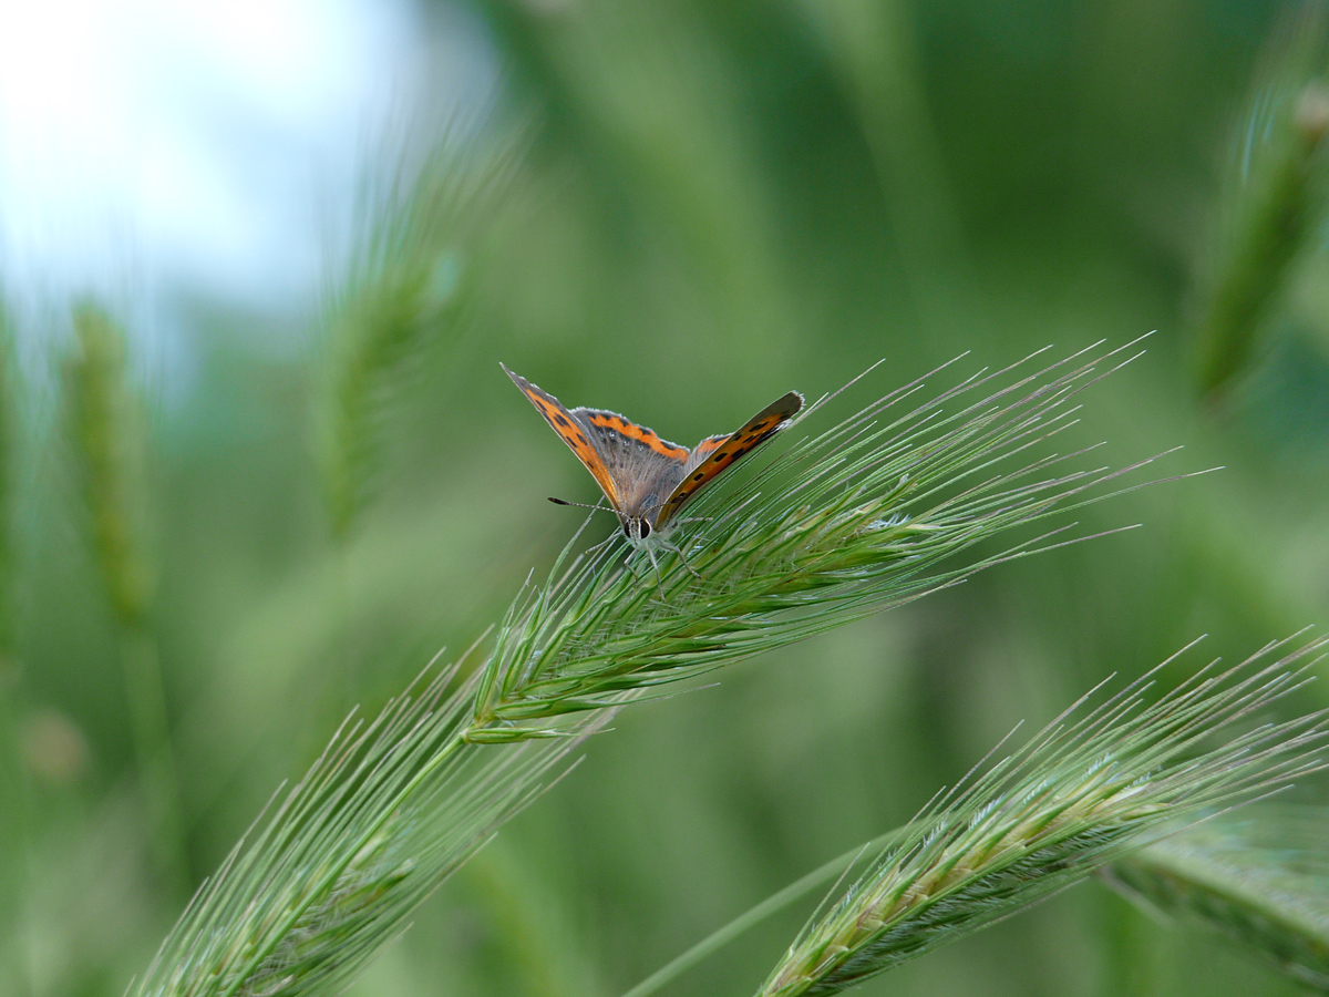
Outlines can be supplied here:
<path id="1" fill-rule="evenodd" d="M 940 795 L 816 917 L 758 990 L 832 994 L 1076 883 L 1170 830 L 1329 764 L 1329 713 L 1251 724 L 1306 679 L 1280 661 L 1211 665 L 1146 705 L 1154 673 L 1073 706 L 1025 747 Z M 1162 666 L 1160 666 L 1162 667 Z M 1155 670 L 1156 671 L 1156 670 Z M 1217 734 L 1225 739 L 1205 747 Z"/>

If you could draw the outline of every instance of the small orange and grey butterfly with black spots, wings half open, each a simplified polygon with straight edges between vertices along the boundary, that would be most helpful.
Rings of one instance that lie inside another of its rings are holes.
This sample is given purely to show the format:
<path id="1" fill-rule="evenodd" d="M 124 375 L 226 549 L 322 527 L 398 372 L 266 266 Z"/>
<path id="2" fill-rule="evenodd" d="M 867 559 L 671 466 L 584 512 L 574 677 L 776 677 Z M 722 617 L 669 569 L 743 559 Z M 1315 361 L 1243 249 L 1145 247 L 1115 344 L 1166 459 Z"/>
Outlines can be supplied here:
<path id="1" fill-rule="evenodd" d="M 548 391 L 506 367 L 502 370 L 591 473 L 618 513 L 623 536 L 634 545 L 667 536 L 678 524 L 679 509 L 780 432 L 803 408 L 803 395 L 791 391 L 748 419 L 738 432 L 707 436 L 690 451 L 617 412 L 569 409 Z"/>

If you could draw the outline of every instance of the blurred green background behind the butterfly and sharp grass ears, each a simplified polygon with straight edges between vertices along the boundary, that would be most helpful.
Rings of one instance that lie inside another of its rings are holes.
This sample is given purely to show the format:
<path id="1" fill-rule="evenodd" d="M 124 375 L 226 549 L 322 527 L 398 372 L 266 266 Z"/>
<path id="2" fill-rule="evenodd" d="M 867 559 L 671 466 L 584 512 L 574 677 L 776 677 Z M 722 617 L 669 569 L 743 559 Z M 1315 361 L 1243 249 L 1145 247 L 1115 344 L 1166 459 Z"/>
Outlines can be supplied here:
<path id="1" fill-rule="evenodd" d="M 365 141 L 322 298 L 263 308 L 177 288 L 165 351 L 189 358 L 187 378 L 154 363 L 134 308 L 105 304 L 128 330 L 138 449 L 118 498 L 94 492 L 70 413 L 89 342 L 70 315 L 101 312 L 15 310 L 0 993 L 122 992 L 352 706 L 372 713 L 440 646 L 472 643 L 548 569 L 579 517 L 544 497 L 594 501 L 594 484 L 500 360 L 569 405 L 691 444 L 882 356 L 874 393 L 964 351 L 968 374 L 1158 330 L 1057 448 L 1106 440 L 1084 461 L 1122 465 L 1185 444 L 1160 475 L 1224 469 L 1079 514 L 1083 533 L 1142 529 L 625 713 L 419 912 L 358 997 L 613 997 L 904 823 L 1017 722 L 1108 673 L 1201 633 L 1235 659 L 1329 622 L 1314 218 L 1220 399 L 1195 362 L 1220 219 L 1243 197 L 1227 164 L 1285 7 L 423 4 L 417 29 L 465 25 L 497 82 L 464 114 L 421 85 L 399 128 Z M 128 524 L 121 561 L 154 580 L 137 615 L 108 597 L 124 569 L 94 529 L 108 501 Z M 148 707 L 125 678 L 153 661 L 174 755 L 159 807 L 136 762 Z M 750 993 L 805 915 L 668 993 Z M 864 988 L 1296 992 L 1096 884 Z"/>

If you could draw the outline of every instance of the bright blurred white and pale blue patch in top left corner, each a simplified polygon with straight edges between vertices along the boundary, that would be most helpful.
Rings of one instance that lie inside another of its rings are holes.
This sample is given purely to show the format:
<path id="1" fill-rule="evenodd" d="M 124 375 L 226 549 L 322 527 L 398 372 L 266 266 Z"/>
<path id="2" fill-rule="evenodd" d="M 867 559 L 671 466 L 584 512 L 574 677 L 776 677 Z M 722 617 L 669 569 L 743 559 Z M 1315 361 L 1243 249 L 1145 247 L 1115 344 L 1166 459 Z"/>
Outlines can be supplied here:
<path id="1" fill-rule="evenodd" d="M 0 0 L 0 275 L 307 303 L 320 202 L 439 52 L 409 0 Z"/>

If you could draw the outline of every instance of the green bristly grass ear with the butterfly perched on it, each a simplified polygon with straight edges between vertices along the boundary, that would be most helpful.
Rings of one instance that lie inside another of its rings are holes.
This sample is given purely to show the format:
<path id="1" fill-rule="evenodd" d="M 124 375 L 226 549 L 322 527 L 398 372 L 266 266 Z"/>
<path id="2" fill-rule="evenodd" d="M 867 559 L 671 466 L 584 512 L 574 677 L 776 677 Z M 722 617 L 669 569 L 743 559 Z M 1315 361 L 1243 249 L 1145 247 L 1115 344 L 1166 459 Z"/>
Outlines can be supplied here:
<path id="1" fill-rule="evenodd" d="M 641 557 L 622 570 L 617 549 L 593 550 L 566 581 L 530 590 L 520 626 L 500 627 L 468 738 L 558 736 L 560 717 L 898 606 L 1038 549 L 1026 541 L 944 565 L 990 537 L 1098 501 L 1095 487 L 1150 463 L 1055 473 L 1083 451 L 1018 460 L 1067 428 L 1079 391 L 1122 363 L 1118 350 L 1025 376 L 1015 364 L 910 408 L 920 379 L 795 444 L 742 487 L 703 495 L 688 506 L 698 525 L 658 572 Z"/>

